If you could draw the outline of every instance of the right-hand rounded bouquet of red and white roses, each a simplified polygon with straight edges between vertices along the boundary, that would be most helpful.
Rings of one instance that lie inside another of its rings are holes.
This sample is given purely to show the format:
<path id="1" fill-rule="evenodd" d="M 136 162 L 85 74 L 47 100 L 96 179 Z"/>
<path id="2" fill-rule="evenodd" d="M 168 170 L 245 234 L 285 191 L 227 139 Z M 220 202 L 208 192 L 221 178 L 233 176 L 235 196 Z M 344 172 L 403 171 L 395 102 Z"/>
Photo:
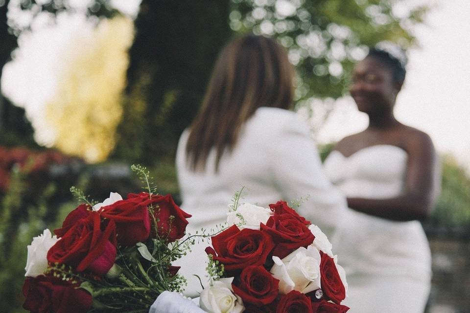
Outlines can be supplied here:
<path id="1" fill-rule="evenodd" d="M 327 236 L 286 202 L 243 203 L 211 237 L 207 312 L 345 313 L 348 284 Z"/>

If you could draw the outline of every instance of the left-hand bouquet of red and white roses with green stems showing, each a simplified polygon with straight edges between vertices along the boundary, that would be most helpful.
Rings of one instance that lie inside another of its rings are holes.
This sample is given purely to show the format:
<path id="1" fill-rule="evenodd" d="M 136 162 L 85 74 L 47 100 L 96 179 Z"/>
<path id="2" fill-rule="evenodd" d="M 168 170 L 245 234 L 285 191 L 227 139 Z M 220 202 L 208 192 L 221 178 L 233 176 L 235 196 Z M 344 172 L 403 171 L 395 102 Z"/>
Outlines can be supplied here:
<path id="1" fill-rule="evenodd" d="M 163 291 L 182 291 L 171 262 L 185 253 L 189 214 L 170 195 L 154 193 L 145 168 L 133 166 L 147 192 L 88 201 L 55 235 L 46 229 L 28 246 L 24 309 L 37 313 L 148 312 Z"/>

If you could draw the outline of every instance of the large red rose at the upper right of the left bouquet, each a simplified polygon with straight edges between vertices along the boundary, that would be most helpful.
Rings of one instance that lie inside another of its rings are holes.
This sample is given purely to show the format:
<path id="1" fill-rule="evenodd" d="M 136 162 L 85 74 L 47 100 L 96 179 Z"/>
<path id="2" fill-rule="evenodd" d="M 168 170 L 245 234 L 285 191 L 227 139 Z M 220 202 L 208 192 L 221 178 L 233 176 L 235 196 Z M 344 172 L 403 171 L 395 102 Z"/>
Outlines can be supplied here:
<path id="1" fill-rule="evenodd" d="M 186 232 L 186 225 L 191 215 L 183 211 L 176 205 L 171 195 L 150 195 L 145 192 L 140 194 L 129 194 L 131 198 L 139 198 L 145 205 L 152 205 L 155 211 L 155 219 L 157 220 L 158 236 L 166 239 L 167 242 L 173 242 L 181 239 Z"/>

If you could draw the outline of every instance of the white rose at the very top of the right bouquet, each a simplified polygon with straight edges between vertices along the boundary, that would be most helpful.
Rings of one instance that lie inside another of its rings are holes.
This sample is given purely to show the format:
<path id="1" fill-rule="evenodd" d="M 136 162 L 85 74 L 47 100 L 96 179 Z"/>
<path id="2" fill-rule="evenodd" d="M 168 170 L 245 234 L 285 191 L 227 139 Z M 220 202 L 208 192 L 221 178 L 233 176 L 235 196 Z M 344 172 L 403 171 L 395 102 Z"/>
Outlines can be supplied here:
<path id="1" fill-rule="evenodd" d="M 242 221 L 237 214 L 240 214 L 246 223 L 239 227 L 240 229 L 259 229 L 259 223 L 266 224 L 273 212 L 271 209 L 245 202 L 238 205 L 236 211 L 227 213 L 227 224 L 240 224 Z"/>

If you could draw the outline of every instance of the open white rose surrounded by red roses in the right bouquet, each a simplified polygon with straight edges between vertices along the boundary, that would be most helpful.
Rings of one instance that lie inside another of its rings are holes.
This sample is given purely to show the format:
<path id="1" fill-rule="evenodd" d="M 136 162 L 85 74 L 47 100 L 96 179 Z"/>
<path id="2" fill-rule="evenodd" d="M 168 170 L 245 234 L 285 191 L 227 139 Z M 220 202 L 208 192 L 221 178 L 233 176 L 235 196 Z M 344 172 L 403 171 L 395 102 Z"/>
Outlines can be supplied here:
<path id="1" fill-rule="evenodd" d="M 282 260 L 273 256 L 271 273 L 279 279 L 279 293 L 307 293 L 321 288 L 320 252 L 314 246 L 300 247 Z"/>

